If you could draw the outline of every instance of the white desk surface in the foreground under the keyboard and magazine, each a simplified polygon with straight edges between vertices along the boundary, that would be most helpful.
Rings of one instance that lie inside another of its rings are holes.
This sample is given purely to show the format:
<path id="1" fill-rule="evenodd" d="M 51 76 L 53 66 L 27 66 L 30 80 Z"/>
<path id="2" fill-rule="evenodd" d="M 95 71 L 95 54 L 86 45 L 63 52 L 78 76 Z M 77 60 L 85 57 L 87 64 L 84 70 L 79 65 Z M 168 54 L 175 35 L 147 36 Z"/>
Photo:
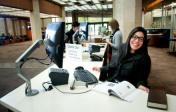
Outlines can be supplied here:
<path id="1" fill-rule="evenodd" d="M 103 62 L 70 62 L 64 60 L 63 68 L 71 74 L 77 66 L 83 66 L 97 77 L 99 74 L 92 71 L 93 66 L 101 67 Z M 56 67 L 52 65 L 51 67 Z M 48 68 L 49 69 L 49 68 Z M 167 95 L 168 110 L 151 109 L 147 107 L 148 94 L 138 90 L 139 95 L 133 102 L 126 102 L 113 96 L 90 91 L 83 94 L 63 94 L 57 89 L 44 91 L 42 83 L 49 81 L 48 69 L 31 79 L 32 89 L 39 90 L 36 96 L 25 95 L 25 84 L 16 88 L 0 99 L 0 103 L 15 112 L 176 112 L 176 96 Z M 69 90 L 68 85 L 58 86 L 62 91 L 79 92 L 90 88 L 76 87 Z"/>

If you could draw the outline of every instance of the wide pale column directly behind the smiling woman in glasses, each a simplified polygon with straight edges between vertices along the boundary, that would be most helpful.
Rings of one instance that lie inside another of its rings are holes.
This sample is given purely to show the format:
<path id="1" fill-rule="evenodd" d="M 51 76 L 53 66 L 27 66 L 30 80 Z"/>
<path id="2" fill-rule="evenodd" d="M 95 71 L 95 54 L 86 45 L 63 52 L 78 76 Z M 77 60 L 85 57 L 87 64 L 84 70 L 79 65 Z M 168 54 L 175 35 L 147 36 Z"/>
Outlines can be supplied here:
<path id="1" fill-rule="evenodd" d="M 119 22 L 125 42 L 134 27 L 142 26 L 142 0 L 114 0 L 113 18 Z"/>

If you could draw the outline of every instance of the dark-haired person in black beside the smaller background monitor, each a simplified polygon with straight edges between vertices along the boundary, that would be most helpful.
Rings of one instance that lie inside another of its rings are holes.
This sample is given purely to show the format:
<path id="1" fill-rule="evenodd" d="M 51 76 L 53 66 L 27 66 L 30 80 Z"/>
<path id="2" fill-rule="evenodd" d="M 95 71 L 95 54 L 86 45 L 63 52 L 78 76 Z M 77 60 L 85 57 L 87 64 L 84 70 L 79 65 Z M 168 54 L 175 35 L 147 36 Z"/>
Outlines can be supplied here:
<path id="1" fill-rule="evenodd" d="M 79 44 L 79 26 L 77 21 L 72 23 L 72 28 L 66 33 L 65 43 Z"/>

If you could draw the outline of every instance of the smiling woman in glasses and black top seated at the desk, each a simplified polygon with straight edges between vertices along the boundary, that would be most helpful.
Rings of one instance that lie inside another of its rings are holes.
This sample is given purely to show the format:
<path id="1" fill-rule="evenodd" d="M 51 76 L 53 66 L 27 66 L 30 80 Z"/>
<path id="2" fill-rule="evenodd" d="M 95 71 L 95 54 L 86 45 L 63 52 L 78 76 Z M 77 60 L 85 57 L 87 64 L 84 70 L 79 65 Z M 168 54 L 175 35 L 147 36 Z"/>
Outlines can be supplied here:
<path id="1" fill-rule="evenodd" d="M 94 71 L 115 71 L 107 80 L 119 82 L 126 80 L 135 87 L 149 92 L 147 79 L 151 69 L 151 59 L 147 49 L 147 32 L 143 27 L 134 28 L 126 41 L 120 45 L 116 61 Z"/>

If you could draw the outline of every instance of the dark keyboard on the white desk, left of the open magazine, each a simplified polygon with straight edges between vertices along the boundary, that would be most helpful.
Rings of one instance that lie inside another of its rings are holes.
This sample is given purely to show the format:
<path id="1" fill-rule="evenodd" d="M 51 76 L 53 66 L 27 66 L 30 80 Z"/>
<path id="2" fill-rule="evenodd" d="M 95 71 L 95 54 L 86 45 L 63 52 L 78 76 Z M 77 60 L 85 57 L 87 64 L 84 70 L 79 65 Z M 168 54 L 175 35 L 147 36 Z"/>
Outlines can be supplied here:
<path id="1" fill-rule="evenodd" d="M 98 83 L 97 78 L 88 70 L 75 70 L 74 77 L 77 81 L 83 81 L 87 84 Z"/>

